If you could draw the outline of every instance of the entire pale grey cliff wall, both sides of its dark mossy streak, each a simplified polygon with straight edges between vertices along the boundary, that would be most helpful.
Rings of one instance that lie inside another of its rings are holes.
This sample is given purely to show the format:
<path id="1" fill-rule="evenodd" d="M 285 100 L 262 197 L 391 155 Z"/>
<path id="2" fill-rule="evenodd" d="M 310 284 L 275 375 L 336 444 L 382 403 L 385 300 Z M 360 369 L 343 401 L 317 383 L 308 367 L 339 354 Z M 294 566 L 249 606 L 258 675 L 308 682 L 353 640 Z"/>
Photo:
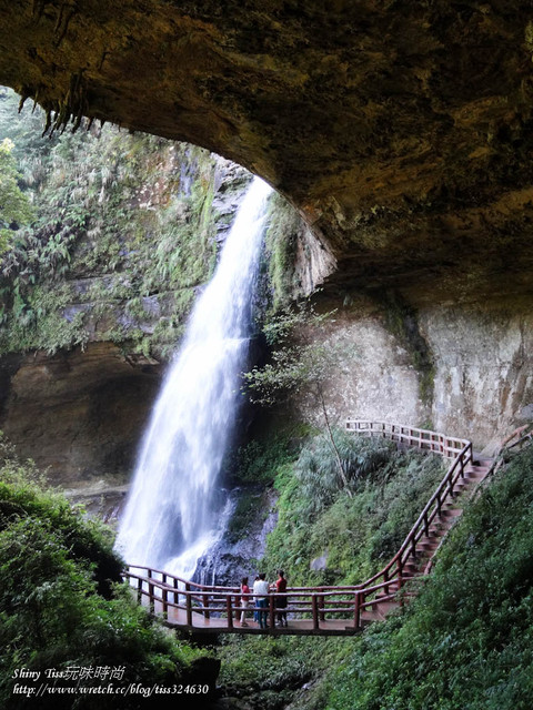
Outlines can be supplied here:
<path id="1" fill-rule="evenodd" d="M 340 310 L 319 334 L 352 353 L 325 384 L 331 418 L 340 425 L 346 416 L 409 423 L 492 450 L 504 433 L 533 417 L 531 313 L 505 302 L 429 306 L 415 316 L 413 338 L 391 328 L 382 304 L 361 300 Z M 421 343 L 428 367 L 416 352 Z M 298 408 L 323 426 L 311 395 Z"/>

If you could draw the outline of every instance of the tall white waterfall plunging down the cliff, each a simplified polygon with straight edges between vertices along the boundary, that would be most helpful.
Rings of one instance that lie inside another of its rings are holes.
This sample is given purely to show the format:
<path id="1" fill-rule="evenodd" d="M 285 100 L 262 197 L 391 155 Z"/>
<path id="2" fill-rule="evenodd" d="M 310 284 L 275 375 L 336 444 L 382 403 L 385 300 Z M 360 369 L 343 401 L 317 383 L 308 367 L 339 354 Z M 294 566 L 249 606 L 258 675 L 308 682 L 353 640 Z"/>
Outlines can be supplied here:
<path id="1" fill-rule="evenodd" d="M 217 480 L 239 406 L 270 192 L 253 180 L 155 404 L 117 540 L 131 565 L 191 578 L 223 531 Z"/>

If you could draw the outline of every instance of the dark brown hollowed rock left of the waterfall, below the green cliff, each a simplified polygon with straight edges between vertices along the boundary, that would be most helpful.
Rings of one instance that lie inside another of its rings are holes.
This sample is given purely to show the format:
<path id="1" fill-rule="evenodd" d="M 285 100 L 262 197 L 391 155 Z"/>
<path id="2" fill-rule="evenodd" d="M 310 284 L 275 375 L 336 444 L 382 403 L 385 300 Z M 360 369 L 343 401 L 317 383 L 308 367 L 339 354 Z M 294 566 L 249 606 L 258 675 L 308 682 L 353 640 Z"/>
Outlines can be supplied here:
<path id="1" fill-rule="evenodd" d="M 2 389 L 0 426 L 54 484 L 123 483 L 150 416 L 161 366 L 110 343 L 27 355 Z"/>

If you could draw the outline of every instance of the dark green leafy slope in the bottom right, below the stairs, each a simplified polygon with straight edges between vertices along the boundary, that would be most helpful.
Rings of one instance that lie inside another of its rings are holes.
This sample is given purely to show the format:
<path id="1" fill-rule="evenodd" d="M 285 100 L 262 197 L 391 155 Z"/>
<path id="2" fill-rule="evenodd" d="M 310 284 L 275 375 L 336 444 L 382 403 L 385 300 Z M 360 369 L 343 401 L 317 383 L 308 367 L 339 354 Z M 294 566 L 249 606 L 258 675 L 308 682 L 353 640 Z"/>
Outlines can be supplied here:
<path id="1" fill-rule="evenodd" d="M 404 620 L 366 633 L 332 710 L 526 710 L 533 691 L 533 448 L 463 516 Z"/>

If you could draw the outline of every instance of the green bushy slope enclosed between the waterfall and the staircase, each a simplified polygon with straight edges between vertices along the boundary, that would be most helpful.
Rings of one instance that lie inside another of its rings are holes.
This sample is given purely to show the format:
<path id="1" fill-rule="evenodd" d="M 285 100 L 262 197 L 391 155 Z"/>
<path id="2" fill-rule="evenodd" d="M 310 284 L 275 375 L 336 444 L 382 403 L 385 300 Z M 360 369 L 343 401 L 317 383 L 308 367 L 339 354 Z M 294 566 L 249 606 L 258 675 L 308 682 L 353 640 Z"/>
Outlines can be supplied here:
<path id="1" fill-rule="evenodd" d="M 356 584 L 378 571 L 409 532 L 443 476 L 440 457 L 396 452 L 383 439 L 333 430 L 312 439 L 279 469 L 279 521 L 264 568 L 291 585 Z M 351 497 L 339 476 L 340 454 Z M 322 569 L 311 570 L 324 557 Z"/>

